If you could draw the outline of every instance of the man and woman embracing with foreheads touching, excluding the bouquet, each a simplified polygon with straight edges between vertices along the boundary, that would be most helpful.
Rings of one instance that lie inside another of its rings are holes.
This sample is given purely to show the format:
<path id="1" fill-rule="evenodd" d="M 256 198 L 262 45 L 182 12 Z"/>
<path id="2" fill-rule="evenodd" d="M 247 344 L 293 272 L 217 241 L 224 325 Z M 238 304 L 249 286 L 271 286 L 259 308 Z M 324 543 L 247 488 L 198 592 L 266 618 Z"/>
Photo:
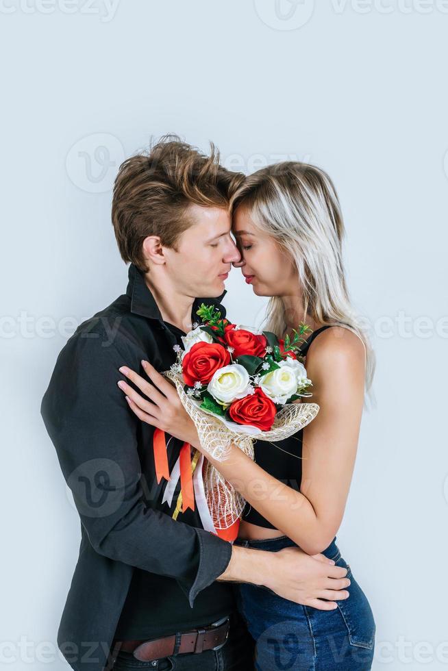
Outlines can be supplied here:
<path id="1" fill-rule="evenodd" d="M 166 136 L 120 166 L 112 223 L 126 292 L 66 342 L 41 406 L 81 522 L 62 655 L 75 671 L 370 669 L 375 620 L 336 533 L 375 364 L 332 181 L 299 162 L 245 177 L 213 145 L 205 155 Z M 320 410 L 290 438 L 257 440 L 253 460 L 234 446 L 216 461 L 246 501 L 229 538 L 195 505 L 174 514 L 155 455 L 162 432 L 168 472 L 185 444 L 201 450 L 160 373 L 202 303 L 226 316 L 232 266 L 269 296 L 279 342 L 309 325 L 300 353 Z"/>

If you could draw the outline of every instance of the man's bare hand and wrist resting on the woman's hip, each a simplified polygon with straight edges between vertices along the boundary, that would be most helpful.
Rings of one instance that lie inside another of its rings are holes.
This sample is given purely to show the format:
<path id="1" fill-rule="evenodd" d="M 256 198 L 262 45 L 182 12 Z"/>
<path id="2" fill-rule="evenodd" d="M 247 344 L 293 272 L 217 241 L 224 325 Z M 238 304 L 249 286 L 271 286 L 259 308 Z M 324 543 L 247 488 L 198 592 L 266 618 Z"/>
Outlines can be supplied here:
<path id="1" fill-rule="evenodd" d="M 307 555 L 301 548 L 266 552 L 233 546 L 232 558 L 219 581 L 264 585 L 283 598 L 319 610 L 334 610 L 336 600 L 349 597 L 347 569 L 325 555 Z M 327 600 L 323 600 L 327 599 Z"/>

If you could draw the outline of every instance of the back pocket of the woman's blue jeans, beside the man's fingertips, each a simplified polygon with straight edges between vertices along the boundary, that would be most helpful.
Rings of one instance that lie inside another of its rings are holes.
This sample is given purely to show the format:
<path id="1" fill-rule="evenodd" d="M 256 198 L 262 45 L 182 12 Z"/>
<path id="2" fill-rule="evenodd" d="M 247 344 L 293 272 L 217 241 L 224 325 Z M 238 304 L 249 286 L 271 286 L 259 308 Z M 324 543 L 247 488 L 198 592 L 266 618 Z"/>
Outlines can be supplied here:
<path id="1" fill-rule="evenodd" d="M 353 578 L 349 564 L 340 557 L 336 566 L 347 568 L 347 578 L 351 584 L 345 589 L 350 596 L 347 599 L 336 601 L 345 626 L 349 634 L 349 642 L 352 646 L 373 649 L 375 644 L 376 624 L 371 605 L 360 585 Z"/>

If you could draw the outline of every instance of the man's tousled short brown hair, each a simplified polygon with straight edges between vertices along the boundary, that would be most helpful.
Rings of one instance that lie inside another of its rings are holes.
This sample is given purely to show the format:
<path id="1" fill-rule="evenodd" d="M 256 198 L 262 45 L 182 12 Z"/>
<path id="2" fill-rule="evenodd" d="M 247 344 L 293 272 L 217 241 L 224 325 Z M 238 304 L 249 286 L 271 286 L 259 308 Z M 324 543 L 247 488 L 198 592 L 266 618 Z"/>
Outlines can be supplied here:
<path id="1" fill-rule="evenodd" d="M 149 152 L 128 158 L 116 176 L 112 199 L 121 258 L 147 273 L 142 249 L 147 236 L 159 236 L 163 246 L 177 251 L 179 236 L 193 223 L 188 205 L 229 210 L 244 179 L 219 164 L 213 142 L 207 156 L 175 135 L 163 136 Z"/>

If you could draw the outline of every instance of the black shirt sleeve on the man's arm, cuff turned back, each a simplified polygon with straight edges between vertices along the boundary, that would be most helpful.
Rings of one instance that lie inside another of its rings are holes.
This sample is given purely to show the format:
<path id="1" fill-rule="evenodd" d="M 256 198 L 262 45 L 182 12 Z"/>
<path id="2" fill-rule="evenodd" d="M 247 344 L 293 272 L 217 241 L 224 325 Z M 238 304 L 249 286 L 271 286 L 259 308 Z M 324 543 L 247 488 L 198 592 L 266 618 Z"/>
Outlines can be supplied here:
<path id="1" fill-rule="evenodd" d="M 60 352 L 40 413 L 88 540 L 100 555 L 172 577 L 190 607 L 229 564 L 232 544 L 142 500 L 140 420 L 117 386 L 139 370 L 132 348 L 76 332 Z M 124 340 L 121 338 L 121 340 Z"/>

